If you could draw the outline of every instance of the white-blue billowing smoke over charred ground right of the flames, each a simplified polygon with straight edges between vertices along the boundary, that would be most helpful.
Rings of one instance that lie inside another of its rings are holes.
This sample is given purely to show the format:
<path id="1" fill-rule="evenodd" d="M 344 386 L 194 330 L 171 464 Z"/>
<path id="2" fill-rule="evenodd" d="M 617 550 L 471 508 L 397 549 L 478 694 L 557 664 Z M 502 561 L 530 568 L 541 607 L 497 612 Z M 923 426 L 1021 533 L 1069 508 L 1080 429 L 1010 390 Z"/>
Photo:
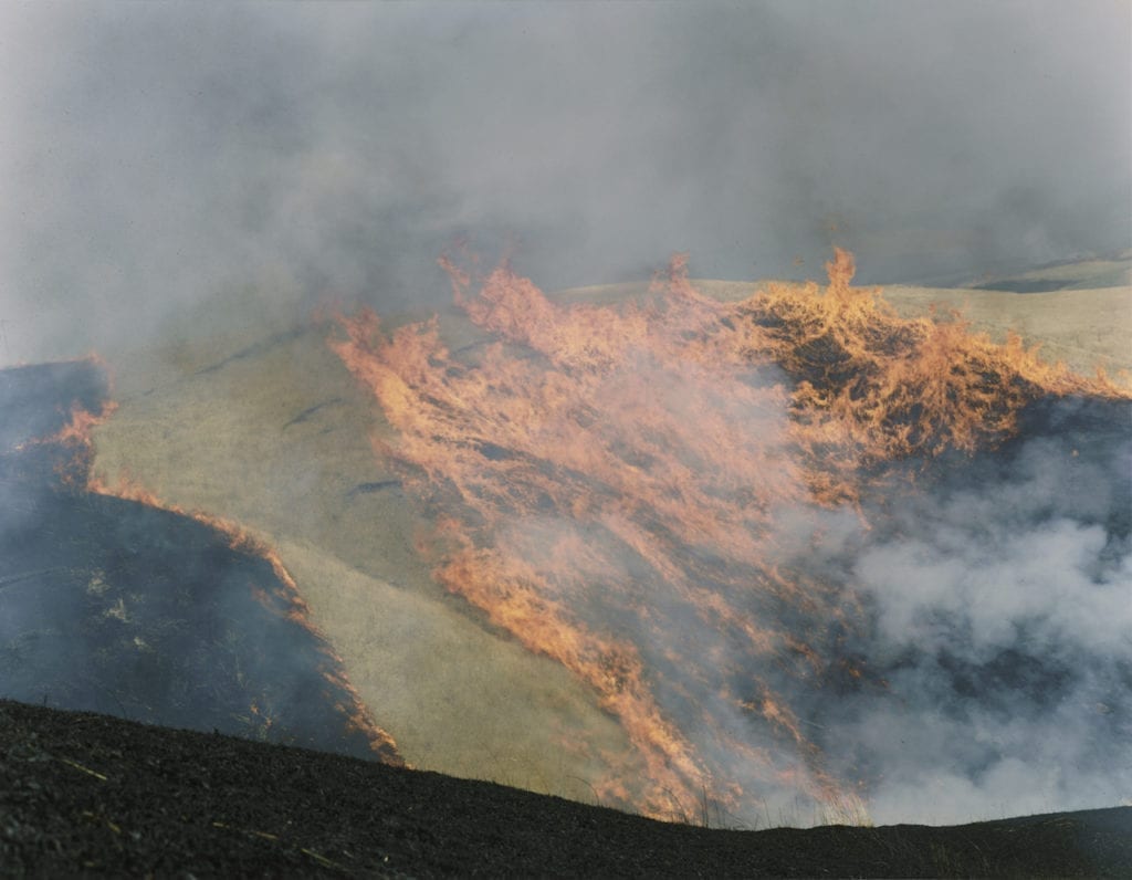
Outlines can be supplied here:
<path id="1" fill-rule="evenodd" d="M 867 755 L 877 821 L 1126 802 L 1127 405 L 1035 407 L 1007 447 L 941 470 L 855 553 L 887 689 L 833 710 L 831 751 Z"/>

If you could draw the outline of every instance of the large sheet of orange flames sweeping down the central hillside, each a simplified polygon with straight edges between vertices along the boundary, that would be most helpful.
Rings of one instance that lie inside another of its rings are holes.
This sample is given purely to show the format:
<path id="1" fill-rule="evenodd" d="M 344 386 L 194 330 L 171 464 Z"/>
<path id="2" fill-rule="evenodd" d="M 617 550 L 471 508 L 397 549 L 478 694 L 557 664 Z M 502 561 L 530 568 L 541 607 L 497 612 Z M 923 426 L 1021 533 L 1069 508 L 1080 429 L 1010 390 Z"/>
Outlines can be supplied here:
<path id="1" fill-rule="evenodd" d="M 660 818 L 854 796 L 797 697 L 861 676 L 851 592 L 805 561 L 823 507 L 859 499 L 884 462 L 1007 435 L 1036 395 L 1120 394 L 1017 340 L 897 317 L 849 287 L 843 250 L 824 294 L 737 304 L 696 292 L 683 256 L 619 307 L 557 305 L 507 265 L 470 297 L 443 265 L 496 338 L 474 364 L 435 318 L 386 338 L 362 311 L 331 344 L 439 512 L 436 576 L 597 691 L 646 769 L 615 766 L 601 794 Z"/>

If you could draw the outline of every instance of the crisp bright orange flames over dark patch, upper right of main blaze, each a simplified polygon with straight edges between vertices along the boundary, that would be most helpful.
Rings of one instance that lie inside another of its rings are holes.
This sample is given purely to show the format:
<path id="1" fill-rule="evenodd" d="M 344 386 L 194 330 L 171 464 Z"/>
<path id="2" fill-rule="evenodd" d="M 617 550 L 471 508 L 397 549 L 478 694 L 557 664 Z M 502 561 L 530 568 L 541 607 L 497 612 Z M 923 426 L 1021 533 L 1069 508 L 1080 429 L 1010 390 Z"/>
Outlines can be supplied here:
<path id="1" fill-rule="evenodd" d="M 878 290 L 849 287 L 854 259 L 840 248 L 826 271 L 824 294 L 813 283 L 775 285 L 737 306 L 764 330 L 767 344 L 753 353 L 796 383 L 792 435 L 826 501 L 856 497 L 861 465 L 993 445 L 1043 395 L 1127 394 L 1099 370 L 1089 379 L 1044 362 L 1017 335 L 995 344 L 958 314 L 898 317 Z"/>

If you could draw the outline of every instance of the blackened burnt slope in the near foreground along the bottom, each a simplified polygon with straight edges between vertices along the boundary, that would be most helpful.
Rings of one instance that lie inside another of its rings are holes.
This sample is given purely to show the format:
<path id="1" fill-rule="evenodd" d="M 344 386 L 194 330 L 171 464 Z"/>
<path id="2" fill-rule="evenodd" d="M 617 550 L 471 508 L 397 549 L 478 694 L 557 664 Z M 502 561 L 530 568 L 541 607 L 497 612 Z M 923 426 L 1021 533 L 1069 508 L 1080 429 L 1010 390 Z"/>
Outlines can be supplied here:
<path id="1" fill-rule="evenodd" d="M 1132 808 L 954 828 L 712 830 L 2 701 L 0 872 L 1126 877 Z"/>

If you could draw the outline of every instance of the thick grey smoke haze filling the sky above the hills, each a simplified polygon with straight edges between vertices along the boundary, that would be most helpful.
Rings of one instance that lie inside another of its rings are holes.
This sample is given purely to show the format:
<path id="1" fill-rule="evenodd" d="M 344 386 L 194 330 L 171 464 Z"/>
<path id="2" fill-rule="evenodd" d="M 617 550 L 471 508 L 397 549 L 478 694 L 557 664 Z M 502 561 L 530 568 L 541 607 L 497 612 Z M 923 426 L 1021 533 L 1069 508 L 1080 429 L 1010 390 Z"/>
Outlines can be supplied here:
<path id="1" fill-rule="evenodd" d="M 0 362 L 437 302 L 463 238 L 546 289 L 1130 240 L 1117 0 L 7 3 L 0 41 Z"/>

